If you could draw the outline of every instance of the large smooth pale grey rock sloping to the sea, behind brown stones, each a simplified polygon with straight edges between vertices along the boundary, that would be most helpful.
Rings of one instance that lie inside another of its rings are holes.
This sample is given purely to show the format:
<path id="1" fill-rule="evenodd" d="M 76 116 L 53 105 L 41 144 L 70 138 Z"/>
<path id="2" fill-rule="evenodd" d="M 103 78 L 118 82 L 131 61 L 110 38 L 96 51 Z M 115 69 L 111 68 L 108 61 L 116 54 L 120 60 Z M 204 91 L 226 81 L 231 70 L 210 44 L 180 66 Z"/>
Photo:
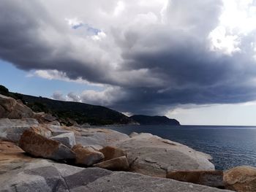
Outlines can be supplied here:
<path id="1" fill-rule="evenodd" d="M 214 170 L 211 156 L 151 134 L 138 134 L 117 147 L 127 151 L 132 172 L 165 177 L 170 171 Z"/>

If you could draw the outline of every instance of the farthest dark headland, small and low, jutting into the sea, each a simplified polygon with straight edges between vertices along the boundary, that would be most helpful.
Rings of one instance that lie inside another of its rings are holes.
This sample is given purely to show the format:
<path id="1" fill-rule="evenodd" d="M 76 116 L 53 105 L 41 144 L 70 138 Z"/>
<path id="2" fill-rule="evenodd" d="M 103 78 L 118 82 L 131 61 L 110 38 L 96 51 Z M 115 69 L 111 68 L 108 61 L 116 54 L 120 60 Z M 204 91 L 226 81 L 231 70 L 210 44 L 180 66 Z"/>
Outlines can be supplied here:
<path id="1" fill-rule="evenodd" d="M 140 123 L 140 125 L 168 125 L 168 126 L 180 125 L 178 120 L 170 119 L 165 116 L 132 115 L 132 117 L 130 118 Z"/>

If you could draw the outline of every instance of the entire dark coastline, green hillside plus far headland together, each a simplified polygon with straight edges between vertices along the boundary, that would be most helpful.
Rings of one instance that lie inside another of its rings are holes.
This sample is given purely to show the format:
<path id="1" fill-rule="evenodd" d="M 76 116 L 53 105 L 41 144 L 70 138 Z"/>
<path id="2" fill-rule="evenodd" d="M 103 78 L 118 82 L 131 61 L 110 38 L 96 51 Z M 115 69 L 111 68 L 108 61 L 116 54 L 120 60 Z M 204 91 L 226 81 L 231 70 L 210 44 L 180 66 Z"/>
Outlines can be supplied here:
<path id="1" fill-rule="evenodd" d="M 169 119 L 165 116 L 133 115 L 132 117 L 127 117 L 121 112 L 111 110 L 108 107 L 12 93 L 3 85 L 0 85 L 0 94 L 20 100 L 34 112 L 53 115 L 50 120 L 56 119 L 65 126 L 72 126 L 76 123 L 86 126 L 179 125 L 178 120 Z"/>

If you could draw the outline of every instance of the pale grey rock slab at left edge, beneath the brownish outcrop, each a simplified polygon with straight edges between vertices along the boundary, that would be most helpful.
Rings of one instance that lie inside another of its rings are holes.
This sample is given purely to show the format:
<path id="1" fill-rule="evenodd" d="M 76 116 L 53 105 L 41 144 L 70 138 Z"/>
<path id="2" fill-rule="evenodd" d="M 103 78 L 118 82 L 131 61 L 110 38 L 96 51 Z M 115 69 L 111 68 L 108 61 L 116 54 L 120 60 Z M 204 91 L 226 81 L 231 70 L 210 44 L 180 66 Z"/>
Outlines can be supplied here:
<path id="1" fill-rule="evenodd" d="M 39 123 L 36 119 L 0 119 L 0 139 L 4 139 L 11 142 L 18 142 L 20 136 L 24 131 L 31 128 L 31 126 L 37 127 Z"/>

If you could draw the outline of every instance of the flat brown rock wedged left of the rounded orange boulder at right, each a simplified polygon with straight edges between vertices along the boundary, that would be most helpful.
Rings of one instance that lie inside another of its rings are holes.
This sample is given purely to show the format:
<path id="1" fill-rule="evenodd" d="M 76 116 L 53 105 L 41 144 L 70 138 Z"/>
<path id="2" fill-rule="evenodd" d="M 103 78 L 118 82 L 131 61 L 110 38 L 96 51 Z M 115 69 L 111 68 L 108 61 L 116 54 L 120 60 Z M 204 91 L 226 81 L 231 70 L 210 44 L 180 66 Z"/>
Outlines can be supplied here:
<path id="1" fill-rule="evenodd" d="M 187 183 L 207 185 L 214 188 L 224 188 L 222 171 L 178 171 L 168 172 L 167 178 Z"/>

